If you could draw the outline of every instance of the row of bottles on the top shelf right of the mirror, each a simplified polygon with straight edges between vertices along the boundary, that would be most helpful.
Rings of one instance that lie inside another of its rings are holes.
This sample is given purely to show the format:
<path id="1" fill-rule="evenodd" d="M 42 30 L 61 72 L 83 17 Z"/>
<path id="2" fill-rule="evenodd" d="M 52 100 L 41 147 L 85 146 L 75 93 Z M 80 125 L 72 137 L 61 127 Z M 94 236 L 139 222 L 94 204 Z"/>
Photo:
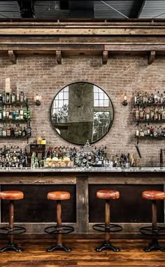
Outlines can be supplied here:
<path id="1" fill-rule="evenodd" d="M 155 93 L 148 94 L 147 92 L 135 92 L 134 104 L 165 104 L 165 91 L 160 93 L 155 90 Z"/>

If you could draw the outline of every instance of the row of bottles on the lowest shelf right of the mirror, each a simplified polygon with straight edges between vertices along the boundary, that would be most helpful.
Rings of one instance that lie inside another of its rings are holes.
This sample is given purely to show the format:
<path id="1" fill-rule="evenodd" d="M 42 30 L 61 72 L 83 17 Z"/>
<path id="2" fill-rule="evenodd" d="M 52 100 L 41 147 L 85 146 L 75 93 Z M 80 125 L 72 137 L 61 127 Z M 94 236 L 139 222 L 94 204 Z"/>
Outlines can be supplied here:
<path id="1" fill-rule="evenodd" d="M 135 136 L 150 136 L 150 137 L 164 137 L 165 138 L 165 127 L 161 125 L 159 127 L 143 125 L 142 127 L 138 127 L 135 132 Z"/>

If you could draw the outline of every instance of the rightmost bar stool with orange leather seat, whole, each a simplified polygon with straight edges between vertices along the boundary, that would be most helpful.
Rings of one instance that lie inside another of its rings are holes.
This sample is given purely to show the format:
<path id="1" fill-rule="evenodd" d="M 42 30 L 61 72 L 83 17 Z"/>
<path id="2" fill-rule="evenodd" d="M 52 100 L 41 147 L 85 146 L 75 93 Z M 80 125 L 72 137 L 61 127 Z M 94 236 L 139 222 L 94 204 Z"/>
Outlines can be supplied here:
<path id="1" fill-rule="evenodd" d="M 144 191 L 142 193 L 143 199 L 152 201 L 152 226 L 141 227 L 140 232 L 144 235 L 152 236 L 152 242 L 148 247 L 144 248 L 145 252 L 150 252 L 152 250 L 162 250 L 165 251 L 165 247 L 162 247 L 158 243 L 158 238 L 160 235 L 165 234 L 165 227 L 157 226 L 157 200 L 164 200 L 165 193 L 162 191 L 150 190 Z"/>

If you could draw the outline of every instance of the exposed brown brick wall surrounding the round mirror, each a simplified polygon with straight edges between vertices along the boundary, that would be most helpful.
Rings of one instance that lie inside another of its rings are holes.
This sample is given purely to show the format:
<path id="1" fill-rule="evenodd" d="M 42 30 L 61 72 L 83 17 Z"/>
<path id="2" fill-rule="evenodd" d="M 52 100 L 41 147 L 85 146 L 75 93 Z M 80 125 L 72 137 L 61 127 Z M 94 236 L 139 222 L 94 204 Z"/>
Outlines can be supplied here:
<path id="1" fill-rule="evenodd" d="M 66 57 L 62 65 L 57 65 L 53 56 L 20 56 L 13 65 L 8 57 L 0 57 L 0 89 L 5 86 L 5 78 L 10 78 L 12 89 L 17 85 L 24 89 L 30 100 L 35 94 L 41 94 L 42 103 L 37 107 L 31 104 L 32 132 L 34 138 L 43 136 L 48 145 L 70 145 L 55 132 L 50 123 L 50 106 L 55 94 L 71 82 L 87 81 L 101 87 L 110 96 L 115 109 L 115 120 L 108 134 L 97 146 L 107 145 L 108 154 L 134 152 L 133 94 L 134 91 L 164 91 L 165 56 L 157 56 L 152 65 L 147 64 L 147 57 L 114 55 L 102 65 L 101 57 Z M 128 106 L 122 106 L 124 93 L 127 94 Z M 159 124 L 158 124 L 159 125 Z M 8 143 L 0 140 L 1 145 Z M 10 140 L 13 145 L 26 145 L 26 141 Z M 140 140 L 141 166 L 159 165 L 159 150 L 164 147 L 164 140 Z M 165 147 L 164 147 L 165 148 Z M 164 160 L 165 161 L 165 160 Z"/>

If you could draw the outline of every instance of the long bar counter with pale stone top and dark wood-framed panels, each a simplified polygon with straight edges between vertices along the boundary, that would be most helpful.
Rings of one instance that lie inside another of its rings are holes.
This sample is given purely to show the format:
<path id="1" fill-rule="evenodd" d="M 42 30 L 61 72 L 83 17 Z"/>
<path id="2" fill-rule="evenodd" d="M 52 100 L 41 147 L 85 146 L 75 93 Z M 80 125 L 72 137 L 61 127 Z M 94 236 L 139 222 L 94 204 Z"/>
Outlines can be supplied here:
<path id="1" fill-rule="evenodd" d="M 120 199 L 112 201 L 111 220 L 122 225 L 123 230 L 113 236 L 133 238 L 139 237 L 138 229 L 149 225 L 151 220 L 150 201 L 141 199 L 141 193 L 148 189 L 164 190 L 165 167 L 1 168 L 0 184 L 1 191 L 24 192 L 24 199 L 15 205 L 15 222 L 25 226 L 27 234 L 43 234 L 45 227 L 55 222 L 55 203 L 48 201 L 46 194 L 62 190 L 71 193 L 71 200 L 62 201 L 63 222 L 73 226 L 75 234 L 96 237 L 100 233 L 95 232 L 92 226 L 104 219 L 104 203 L 96 199 L 96 191 L 117 189 Z M 159 202 L 158 222 L 163 225 L 164 203 Z M 6 203 L 1 201 L 1 226 L 6 225 L 8 220 L 7 209 Z"/>

